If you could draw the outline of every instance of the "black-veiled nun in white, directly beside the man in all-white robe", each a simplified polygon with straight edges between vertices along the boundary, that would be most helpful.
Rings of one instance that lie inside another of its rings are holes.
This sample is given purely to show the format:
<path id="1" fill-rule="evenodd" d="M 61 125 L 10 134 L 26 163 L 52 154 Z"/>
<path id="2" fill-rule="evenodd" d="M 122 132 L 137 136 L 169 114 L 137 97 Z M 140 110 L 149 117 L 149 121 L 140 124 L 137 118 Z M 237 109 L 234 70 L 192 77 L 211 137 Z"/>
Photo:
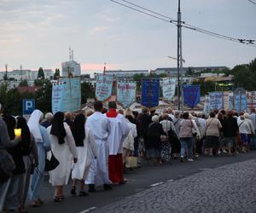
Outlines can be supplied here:
<path id="1" fill-rule="evenodd" d="M 96 158 L 96 143 L 94 135 L 91 131 L 85 128 L 85 116 L 79 114 L 74 119 L 72 134 L 77 147 L 79 161 L 74 164 L 72 171 L 72 190 L 71 194 L 76 195 L 76 181 L 81 183 L 79 196 L 88 195 L 84 191 L 84 180 L 88 176 L 90 163 L 93 158 Z"/>

